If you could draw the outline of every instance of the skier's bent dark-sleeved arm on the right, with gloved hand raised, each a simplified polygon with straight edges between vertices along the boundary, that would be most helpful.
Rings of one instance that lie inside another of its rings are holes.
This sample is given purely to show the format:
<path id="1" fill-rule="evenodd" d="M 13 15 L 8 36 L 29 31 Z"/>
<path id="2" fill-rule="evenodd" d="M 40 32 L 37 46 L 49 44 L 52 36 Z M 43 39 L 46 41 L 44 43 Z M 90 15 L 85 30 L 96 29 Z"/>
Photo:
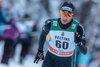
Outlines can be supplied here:
<path id="1" fill-rule="evenodd" d="M 75 43 L 78 44 L 78 49 L 81 53 L 86 54 L 87 48 L 86 48 L 86 40 L 85 40 L 85 34 L 83 27 L 79 24 L 77 28 L 78 34 L 75 34 Z"/>

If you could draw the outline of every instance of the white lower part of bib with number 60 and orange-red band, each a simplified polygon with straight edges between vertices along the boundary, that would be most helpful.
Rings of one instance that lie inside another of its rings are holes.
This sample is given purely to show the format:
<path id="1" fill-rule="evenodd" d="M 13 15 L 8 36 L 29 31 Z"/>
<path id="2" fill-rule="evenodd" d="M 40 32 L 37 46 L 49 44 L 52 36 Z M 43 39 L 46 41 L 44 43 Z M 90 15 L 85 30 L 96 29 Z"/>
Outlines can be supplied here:
<path id="1" fill-rule="evenodd" d="M 75 49 L 74 32 L 50 30 L 48 50 L 60 57 L 72 56 Z"/>

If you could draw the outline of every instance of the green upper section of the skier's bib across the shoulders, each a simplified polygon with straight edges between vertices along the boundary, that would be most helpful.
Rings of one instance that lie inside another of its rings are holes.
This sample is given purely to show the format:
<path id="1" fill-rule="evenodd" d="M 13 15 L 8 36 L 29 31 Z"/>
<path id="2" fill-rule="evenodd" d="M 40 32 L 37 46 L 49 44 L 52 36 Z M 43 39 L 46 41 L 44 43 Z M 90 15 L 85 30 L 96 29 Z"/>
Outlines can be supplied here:
<path id="1" fill-rule="evenodd" d="M 79 22 L 73 19 L 72 24 L 67 29 L 62 29 L 59 26 L 58 18 L 56 18 L 56 19 L 52 19 L 50 30 L 76 32 L 78 24 L 79 24 Z"/>

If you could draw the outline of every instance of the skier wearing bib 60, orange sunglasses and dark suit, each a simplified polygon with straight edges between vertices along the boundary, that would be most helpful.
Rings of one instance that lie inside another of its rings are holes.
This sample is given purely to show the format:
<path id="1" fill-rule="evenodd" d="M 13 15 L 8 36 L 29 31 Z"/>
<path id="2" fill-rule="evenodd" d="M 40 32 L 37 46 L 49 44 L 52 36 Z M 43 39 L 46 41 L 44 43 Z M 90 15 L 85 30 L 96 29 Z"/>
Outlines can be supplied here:
<path id="1" fill-rule="evenodd" d="M 60 8 L 61 18 L 48 19 L 45 22 L 34 63 L 44 59 L 42 67 L 71 67 L 75 45 L 81 53 L 87 53 L 83 27 L 73 19 L 74 9 L 71 2 L 64 2 Z M 48 33 L 50 41 L 44 58 L 43 45 Z"/>

